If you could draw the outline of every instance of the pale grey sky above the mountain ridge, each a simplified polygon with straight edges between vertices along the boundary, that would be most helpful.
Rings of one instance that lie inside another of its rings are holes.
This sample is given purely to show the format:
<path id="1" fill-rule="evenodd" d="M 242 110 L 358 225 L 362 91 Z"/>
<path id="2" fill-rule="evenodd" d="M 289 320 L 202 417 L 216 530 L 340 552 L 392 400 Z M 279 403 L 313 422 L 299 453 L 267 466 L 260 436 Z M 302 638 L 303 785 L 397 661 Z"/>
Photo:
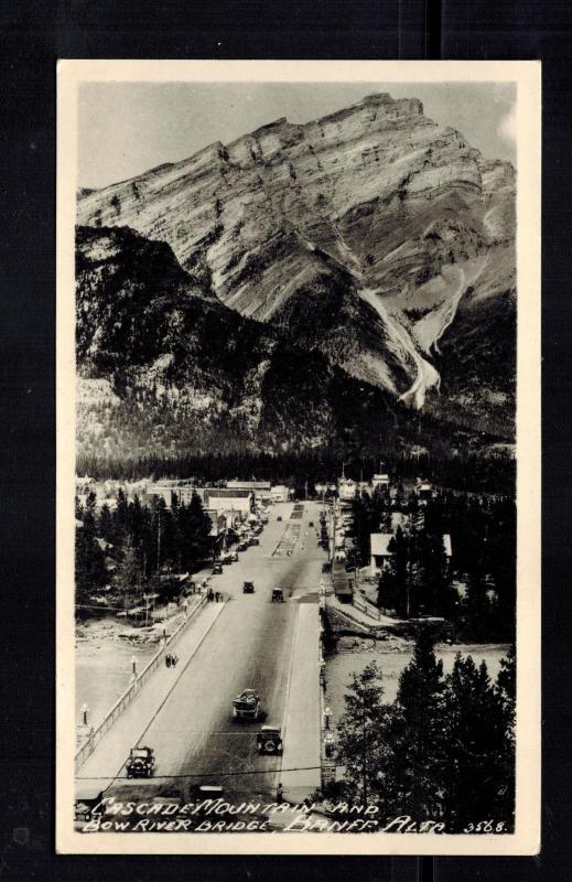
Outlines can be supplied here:
<path id="1" fill-rule="evenodd" d="M 371 93 L 419 98 L 486 159 L 516 165 L 512 83 L 85 83 L 78 186 L 102 187 L 236 138 L 279 117 L 309 122 Z"/>

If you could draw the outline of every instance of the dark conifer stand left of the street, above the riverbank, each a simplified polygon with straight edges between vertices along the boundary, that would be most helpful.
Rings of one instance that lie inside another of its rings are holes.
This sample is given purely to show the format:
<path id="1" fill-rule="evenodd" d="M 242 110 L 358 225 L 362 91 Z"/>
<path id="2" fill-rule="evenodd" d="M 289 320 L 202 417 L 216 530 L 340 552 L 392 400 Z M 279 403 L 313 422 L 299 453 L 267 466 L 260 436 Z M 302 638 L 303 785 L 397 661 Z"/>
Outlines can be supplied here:
<path id="1" fill-rule="evenodd" d="M 212 521 L 196 493 L 187 505 L 175 497 L 169 509 L 161 497 L 147 507 L 119 490 L 117 506 L 104 504 L 99 512 L 89 493 L 85 504 L 76 497 L 75 514 L 82 524 L 76 529 L 76 602 L 86 606 L 94 591 L 109 584 L 130 599 L 143 590 L 168 599 L 173 582 L 162 576 L 192 572 L 213 551 Z"/>

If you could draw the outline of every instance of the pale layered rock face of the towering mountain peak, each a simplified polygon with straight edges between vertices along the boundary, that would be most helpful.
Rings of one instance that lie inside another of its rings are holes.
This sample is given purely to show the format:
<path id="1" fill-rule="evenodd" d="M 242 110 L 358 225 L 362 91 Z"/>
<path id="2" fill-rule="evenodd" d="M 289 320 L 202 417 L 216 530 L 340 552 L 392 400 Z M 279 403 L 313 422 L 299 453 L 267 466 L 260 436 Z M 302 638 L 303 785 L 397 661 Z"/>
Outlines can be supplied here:
<path id="1" fill-rule="evenodd" d="M 490 354 L 482 320 L 497 298 L 515 313 L 514 170 L 414 98 L 373 95 L 306 125 L 279 119 L 84 192 L 77 218 L 168 243 L 203 292 L 418 409 L 446 408 L 439 387 L 460 311 L 472 343 L 455 345 L 453 361 L 463 353 L 460 369 L 477 375 Z M 512 389 L 498 381 L 496 417 L 510 434 Z M 455 387 L 461 421 L 486 417 L 477 386 Z"/>

